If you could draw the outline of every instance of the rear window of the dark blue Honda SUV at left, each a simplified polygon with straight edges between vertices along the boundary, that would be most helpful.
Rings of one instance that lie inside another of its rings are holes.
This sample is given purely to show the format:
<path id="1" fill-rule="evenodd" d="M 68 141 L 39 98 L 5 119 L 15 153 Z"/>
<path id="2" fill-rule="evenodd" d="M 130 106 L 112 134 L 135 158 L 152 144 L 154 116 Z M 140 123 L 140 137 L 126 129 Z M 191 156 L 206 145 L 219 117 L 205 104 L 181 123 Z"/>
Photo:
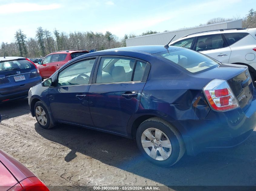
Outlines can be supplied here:
<path id="1" fill-rule="evenodd" d="M 0 63 L 0 72 L 11 69 L 26 69 L 31 68 L 32 63 L 28 60 L 12 60 Z"/>

